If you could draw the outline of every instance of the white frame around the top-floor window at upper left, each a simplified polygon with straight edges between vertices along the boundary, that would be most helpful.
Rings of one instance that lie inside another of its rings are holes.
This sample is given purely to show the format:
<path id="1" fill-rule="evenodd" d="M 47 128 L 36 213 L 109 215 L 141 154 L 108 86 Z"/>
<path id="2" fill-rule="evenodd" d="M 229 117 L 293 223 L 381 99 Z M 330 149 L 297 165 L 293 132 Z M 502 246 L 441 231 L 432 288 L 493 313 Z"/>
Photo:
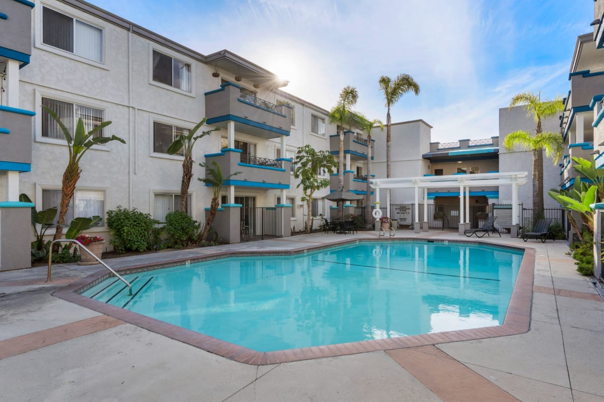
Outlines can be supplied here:
<path id="1" fill-rule="evenodd" d="M 72 17 L 78 19 L 86 24 L 92 25 L 93 27 L 99 28 L 103 31 L 103 61 L 95 61 L 90 58 L 79 56 L 75 53 L 55 48 L 54 46 L 47 45 L 42 42 L 42 8 L 48 7 L 52 8 L 54 11 L 58 13 L 65 14 L 68 17 Z M 83 11 L 76 10 L 75 8 L 68 7 L 65 4 L 56 1 L 45 0 L 40 2 L 40 7 L 34 7 L 34 14 L 36 16 L 36 32 L 35 43 L 34 46 L 39 49 L 43 49 L 48 52 L 52 52 L 54 54 L 62 55 L 64 57 L 71 58 L 72 60 L 82 61 L 82 63 L 90 64 L 91 66 L 99 67 L 102 69 L 109 69 L 109 49 L 111 49 L 111 43 L 109 43 L 109 30 L 111 24 L 105 22 L 101 19 L 95 18 L 88 13 L 84 13 Z"/>

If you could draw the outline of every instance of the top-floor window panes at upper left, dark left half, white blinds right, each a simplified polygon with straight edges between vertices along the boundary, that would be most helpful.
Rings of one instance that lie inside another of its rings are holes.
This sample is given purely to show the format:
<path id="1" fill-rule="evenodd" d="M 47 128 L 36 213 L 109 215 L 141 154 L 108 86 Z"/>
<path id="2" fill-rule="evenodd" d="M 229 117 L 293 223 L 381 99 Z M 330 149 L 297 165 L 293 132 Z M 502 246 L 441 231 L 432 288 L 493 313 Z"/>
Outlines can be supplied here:
<path id="1" fill-rule="evenodd" d="M 103 63 L 103 30 L 42 8 L 42 43 Z"/>

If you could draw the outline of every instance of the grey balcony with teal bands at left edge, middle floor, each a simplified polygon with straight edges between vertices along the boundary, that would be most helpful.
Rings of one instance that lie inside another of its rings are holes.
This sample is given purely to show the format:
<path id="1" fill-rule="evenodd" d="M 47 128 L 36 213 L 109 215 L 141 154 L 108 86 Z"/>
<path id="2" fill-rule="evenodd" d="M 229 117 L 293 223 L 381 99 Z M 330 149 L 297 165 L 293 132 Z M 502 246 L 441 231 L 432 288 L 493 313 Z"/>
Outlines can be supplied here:
<path id="1" fill-rule="evenodd" d="M 0 106 L 0 170 L 31 170 L 33 111 Z"/>

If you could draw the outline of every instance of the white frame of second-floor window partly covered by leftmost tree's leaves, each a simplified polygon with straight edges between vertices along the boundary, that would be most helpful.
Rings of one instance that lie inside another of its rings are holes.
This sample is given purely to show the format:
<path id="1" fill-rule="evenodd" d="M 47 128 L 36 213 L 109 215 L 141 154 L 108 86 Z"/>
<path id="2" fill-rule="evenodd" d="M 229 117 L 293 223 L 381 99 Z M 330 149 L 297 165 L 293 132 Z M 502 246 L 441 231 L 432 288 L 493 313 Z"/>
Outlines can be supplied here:
<path id="1" fill-rule="evenodd" d="M 98 104 L 98 103 L 93 103 L 91 101 L 89 101 L 89 98 L 84 98 L 83 96 L 78 96 L 78 95 L 73 95 L 73 94 L 68 94 L 65 95 L 62 92 L 50 92 L 50 91 L 46 91 L 46 90 L 39 90 L 36 89 L 34 90 L 34 96 L 36 98 L 35 103 L 36 103 L 36 108 L 34 110 L 36 110 L 36 118 L 34 119 L 34 128 L 36 130 L 36 142 L 45 142 L 45 143 L 49 143 L 49 144 L 54 144 L 54 145 L 61 145 L 61 146 L 67 146 L 67 142 L 65 141 L 65 139 L 58 139 L 58 138 L 51 138 L 51 137 L 44 137 L 42 136 L 42 98 L 50 98 L 50 99 L 55 99 L 57 101 L 62 101 L 62 102 L 69 102 L 69 103 L 74 103 L 74 104 L 79 104 L 82 106 L 88 106 L 88 107 L 94 107 L 97 109 L 101 109 L 104 111 L 104 121 L 111 121 L 111 116 L 110 116 L 110 111 L 111 109 L 109 108 L 109 105 L 103 105 L 103 104 Z M 112 124 L 108 125 L 107 127 L 103 128 L 103 137 L 111 137 L 112 133 L 111 133 L 111 127 Z M 74 125 L 74 128 L 76 126 Z M 74 129 L 75 130 L 75 129 Z M 73 134 L 73 133 L 71 133 Z M 99 144 L 99 145 L 92 145 L 90 147 L 90 149 L 96 149 L 97 151 L 111 151 L 111 142 L 105 143 L 105 144 Z"/>

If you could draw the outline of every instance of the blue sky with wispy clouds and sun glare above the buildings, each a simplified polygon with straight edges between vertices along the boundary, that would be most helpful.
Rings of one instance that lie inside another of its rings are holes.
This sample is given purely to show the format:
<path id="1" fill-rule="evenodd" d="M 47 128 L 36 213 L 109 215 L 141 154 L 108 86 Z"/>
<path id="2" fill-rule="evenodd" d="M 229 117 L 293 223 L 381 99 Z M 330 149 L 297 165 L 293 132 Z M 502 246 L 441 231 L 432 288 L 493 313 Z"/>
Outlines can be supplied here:
<path id="1" fill-rule="evenodd" d="M 576 38 L 593 31 L 586 0 L 89 1 L 202 54 L 229 49 L 326 109 L 353 85 L 385 122 L 377 80 L 410 74 L 421 93 L 393 122 L 424 119 L 440 142 L 498 135 L 498 109 L 524 90 L 566 96 Z"/>

